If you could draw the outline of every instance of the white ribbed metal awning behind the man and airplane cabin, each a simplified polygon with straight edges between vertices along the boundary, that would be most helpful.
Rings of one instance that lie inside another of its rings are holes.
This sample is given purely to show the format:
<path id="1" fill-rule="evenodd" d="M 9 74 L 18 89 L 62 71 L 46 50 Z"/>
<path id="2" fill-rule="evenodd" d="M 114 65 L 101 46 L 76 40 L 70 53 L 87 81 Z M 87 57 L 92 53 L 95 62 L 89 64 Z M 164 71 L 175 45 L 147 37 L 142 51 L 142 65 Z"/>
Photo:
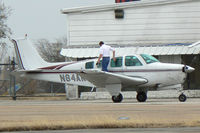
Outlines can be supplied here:
<path id="1" fill-rule="evenodd" d="M 188 46 L 152 46 L 152 47 L 118 47 L 115 48 L 116 56 L 136 54 L 149 55 L 189 55 L 200 54 L 200 47 Z M 61 55 L 72 58 L 91 58 L 99 56 L 99 48 L 66 48 L 61 50 Z"/>

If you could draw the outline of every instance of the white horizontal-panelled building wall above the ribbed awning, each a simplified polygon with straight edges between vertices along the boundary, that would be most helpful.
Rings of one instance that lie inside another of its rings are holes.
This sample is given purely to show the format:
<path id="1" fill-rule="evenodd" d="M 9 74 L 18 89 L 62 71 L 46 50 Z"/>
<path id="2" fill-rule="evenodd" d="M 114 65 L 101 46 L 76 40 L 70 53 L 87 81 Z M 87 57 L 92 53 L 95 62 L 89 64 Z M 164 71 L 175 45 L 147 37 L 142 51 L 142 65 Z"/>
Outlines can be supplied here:
<path id="1" fill-rule="evenodd" d="M 68 14 L 70 45 L 169 44 L 200 40 L 200 1 L 149 4 L 124 9 L 116 19 L 114 10 Z"/>

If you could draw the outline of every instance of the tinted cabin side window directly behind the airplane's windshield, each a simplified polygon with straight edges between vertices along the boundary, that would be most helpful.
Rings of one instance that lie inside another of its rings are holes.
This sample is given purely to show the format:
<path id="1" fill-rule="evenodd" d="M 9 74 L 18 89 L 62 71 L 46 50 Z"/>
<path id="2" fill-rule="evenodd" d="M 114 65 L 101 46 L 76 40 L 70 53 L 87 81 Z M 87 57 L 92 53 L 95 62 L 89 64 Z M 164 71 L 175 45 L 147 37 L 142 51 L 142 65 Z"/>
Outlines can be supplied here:
<path id="1" fill-rule="evenodd" d="M 142 66 L 142 63 L 136 56 L 126 56 L 125 66 Z"/>

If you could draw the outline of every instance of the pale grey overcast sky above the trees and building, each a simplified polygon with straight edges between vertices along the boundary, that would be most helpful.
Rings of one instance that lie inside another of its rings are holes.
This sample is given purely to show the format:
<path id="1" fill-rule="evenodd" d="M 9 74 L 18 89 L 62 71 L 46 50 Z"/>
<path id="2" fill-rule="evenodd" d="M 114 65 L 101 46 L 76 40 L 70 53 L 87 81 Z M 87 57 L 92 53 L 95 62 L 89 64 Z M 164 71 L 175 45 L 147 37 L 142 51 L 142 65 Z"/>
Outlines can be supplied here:
<path id="1" fill-rule="evenodd" d="M 115 0 L 0 0 L 12 9 L 8 25 L 14 38 L 55 41 L 66 36 L 66 16 L 60 9 L 114 3 Z"/>

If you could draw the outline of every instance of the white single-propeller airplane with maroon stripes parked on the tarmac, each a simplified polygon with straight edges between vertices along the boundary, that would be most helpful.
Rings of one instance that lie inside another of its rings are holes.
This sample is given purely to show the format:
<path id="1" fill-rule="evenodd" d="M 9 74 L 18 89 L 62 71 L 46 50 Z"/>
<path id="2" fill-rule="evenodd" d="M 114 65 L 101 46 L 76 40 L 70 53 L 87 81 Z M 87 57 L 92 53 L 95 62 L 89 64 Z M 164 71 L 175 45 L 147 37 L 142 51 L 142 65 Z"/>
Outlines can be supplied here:
<path id="1" fill-rule="evenodd" d="M 121 102 L 121 90 L 137 92 L 137 100 L 145 102 L 149 90 L 183 88 L 188 73 L 194 68 L 183 64 L 161 63 L 147 54 L 132 54 L 111 59 L 109 72 L 101 71 L 101 65 L 95 65 L 96 59 L 74 62 L 49 63 L 44 61 L 31 41 L 12 40 L 19 69 L 15 75 L 31 79 L 66 83 L 69 85 L 106 88 L 115 103 Z M 187 97 L 181 92 L 179 101 Z"/>

